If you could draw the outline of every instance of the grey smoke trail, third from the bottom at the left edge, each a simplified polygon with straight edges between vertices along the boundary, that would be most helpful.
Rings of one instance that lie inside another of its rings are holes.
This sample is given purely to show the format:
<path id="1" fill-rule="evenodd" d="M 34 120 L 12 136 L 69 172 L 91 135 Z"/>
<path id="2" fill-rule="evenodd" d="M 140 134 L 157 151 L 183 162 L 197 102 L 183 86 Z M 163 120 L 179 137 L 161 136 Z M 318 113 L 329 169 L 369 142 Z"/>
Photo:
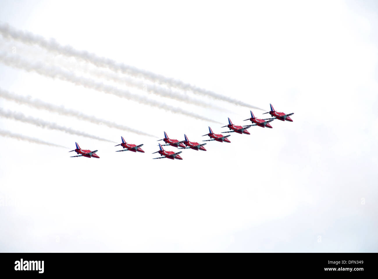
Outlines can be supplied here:
<path id="1" fill-rule="evenodd" d="M 91 122 L 93 124 L 100 124 L 100 125 L 103 124 L 103 125 L 110 127 L 110 128 L 116 128 L 116 129 L 131 132 L 131 133 L 135 133 L 135 134 L 138 134 L 138 135 L 152 136 L 152 137 L 156 138 L 156 136 L 153 136 L 153 135 L 150 135 L 148 133 L 144 133 L 144 132 L 132 129 L 130 127 L 118 124 L 116 122 L 97 118 L 97 117 L 91 116 L 91 115 L 86 115 L 86 114 L 79 112 L 77 110 L 71 110 L 71 109 L 68 109 L 68 108 L 65 108 L 65 107 L 62 107 L 62 106 L 59 106 L 59 105 L 53 105 L 53 104 L 44 102 L 44 101 L 39 100 L 39 99 L 31 99 L 30 97 L 17 95 L 17 94 L 14 94 L 12 92 L 3 90 L 2 88 L 0 88 L 0 97 L 7 99 L 7 100 L 10 100 L 10 101 L 17 102 L 19 104 L 25 104 L 25 105 L 29 105 L 29 106 L 32 106 L 32 107 L 35 107 L 35 108 L 38 108 L 38 109 L 48 110 L 49 112 L 59 113 L 60 115 L 71 116 L 71 117 L 74 117 L 74 118 L 77 118 L 77 119 L 80 119 L 80 120 Z"/>

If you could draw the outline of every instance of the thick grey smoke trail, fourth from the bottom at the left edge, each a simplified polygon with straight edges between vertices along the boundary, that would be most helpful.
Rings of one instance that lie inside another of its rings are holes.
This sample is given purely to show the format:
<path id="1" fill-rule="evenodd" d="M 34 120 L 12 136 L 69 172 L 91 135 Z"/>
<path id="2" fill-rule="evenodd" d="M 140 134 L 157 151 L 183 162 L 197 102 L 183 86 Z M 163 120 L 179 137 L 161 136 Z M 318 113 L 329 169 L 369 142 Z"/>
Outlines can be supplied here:
<path id="1" fill-rule="evenodd" d="M 133 94 L 128 90 L 123 90 L 112 85 L 103 84 L 102 82 L 97 82 L 87 77 L 77 76 L 76 74 L 71 73 L 69 71 L 65 71 L 59 67 L 45 66 L 41 63 L 29 63 L 26 60 L 20 59 L 19 56 L 16 56 L 16 55 L 8 56 L 6 53 L 0 53 L 0 62 L 3 62 L 4 64 L 11 67 L 20 68 L 26 71 L 34 71 L 43 76 L 48 76 L 51 78 L 59 78 L 62 81 L 72 82 L 75 85 L 81 85 L 85 88 L 94 89 L 103 93 L 118 96 L 120 98 L 136 101 L 139 104 L 150 105 L 151 107 L 157 107 L 157 108 L 161 108 L 170 112 L 180 113 L 182 115 L 190 116 L 192 118 L 222 124 L 218 121 L 214 121 L 212 119 L 203 117 L 196 113 L 183 110 L 180 107 L 173 107 L 159 101 L 151 100 L 147 98 L 146 96 Z"/>

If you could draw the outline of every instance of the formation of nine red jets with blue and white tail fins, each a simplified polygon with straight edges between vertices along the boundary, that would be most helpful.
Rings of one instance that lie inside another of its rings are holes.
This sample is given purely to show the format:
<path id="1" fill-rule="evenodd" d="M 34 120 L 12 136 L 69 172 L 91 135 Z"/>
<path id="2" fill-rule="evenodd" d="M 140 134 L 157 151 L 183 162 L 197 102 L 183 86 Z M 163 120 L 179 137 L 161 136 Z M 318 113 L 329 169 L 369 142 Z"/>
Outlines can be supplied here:
<path id="1" fill-rule="evenodd" d="M 247 131 L 247 129 L 249 127 L 260 126 L 260 127 L 263 127 L 263 128 L 265 128 L 265 127 L 273 128 L 269 123 L 272 122 L 274 119 L 279 119 L 281 121 L 293 122 L 293 119 L 291 119 L 290 116 L 293 115 L 294 113 L 286 114 L 286 113 L 283 113 L 283 112 L 277 112 L 276 110 L 274 110 L 272 104 L 270 104 L 270 112 L 265 112 L 265 113 L 269 113 L 271 116 L 273 116 L 273 118 L 265 118 L 265 119 L 256 118 L 254 116 L 253 112 L 252 111 L 250 111 L 250 112 L 251 112 L 251 118 L 245 119 L 243 121 L 250 120 L 253 124 L 245 125 L 245 126 L 234 125 L 234 124 L 232 124 L 231 119 L 228 118 L 228 125 L 223 126 L 222 128 L 228 127 L 228 129 L 230 131 L 222 132 L 222 133 L 239 133 L 239 134 L 250 135 L 250 133 Z M 265 114 L 265 113 L 263 113 L 263 114 Z M 231 141 L 228 139 L 228 137 L 231 136 L 231 135 L 224 136 L 222 134 L 215 134 L 210 127 L 209 127 L 209 133 L 207 133 L 206 135 L 203 135 L 203 136 L 209 136 L 211 138 L 210 140 L 204 140 L 204 141 L 219 141 L 221 143 L 223 143 L 223 142 L 231 143 Z M 184 138 L 185 138 L 185 140 L 183 140 L 183 141 L 174 140 L 174 139 L 169 138 L 167 133 L 164 132 L 164 138 L 161 139 L 161 140 L 158 140 L 158 141 L 164 141 L 164 143 L 166 143 L 166 144 L 160 144 L 159 143 L 160 150 L 153 152 L 152 154 L 159 153 L 160 157 L 153 158 L 153 159 L 168 158 L 168 159 L 172 159 L 172 160 L 174 160 L 174 159 L 183 160 L 183 158 L 181 158 L 181 156 L 180 156 L 182 151 L 179 151 L 179 152 L 166 151 L 166 150 L 164 150 L 163 146 L 174 146 L 174 147 L 177 147 L 178 149 L 190 148 L 190 149 L 194 149 L 194 150 L 206 151 L 206 149 L 203 147 L 204 145 L 206 145 L 206 143 L 199 144 L 195 141 L 189 141 L 189 139 L 186 135 L 184 135 Z M 141 149 L 143 144 L 135 145 L 135 144 L 126 143 L 123 136 L 121 136 L 121 140 L 122 140 L 122 143 L 117 144 L 116 146 L 122 146 L 123 149 L 117 150 L 116 152 L 121 152 L 121 151 L 137 152 L 138 151 L 138 152 L 144 153 L 143 149 Z M 71 157 L 82 157 L 83 156 L 83 157 L 87 157 L 87 158 L 91 158 L 91 157 L 100 158 L 96 154 L 96 152 L 98 150 L 91 151 L 91 150 L 81 149 L 80 146 L 77 143 L 75 143 L 75 144 L 76 144 L 76 149 L 71 150 L 69 152 L 75 151 L 78 155 L 71 156 Z"/>

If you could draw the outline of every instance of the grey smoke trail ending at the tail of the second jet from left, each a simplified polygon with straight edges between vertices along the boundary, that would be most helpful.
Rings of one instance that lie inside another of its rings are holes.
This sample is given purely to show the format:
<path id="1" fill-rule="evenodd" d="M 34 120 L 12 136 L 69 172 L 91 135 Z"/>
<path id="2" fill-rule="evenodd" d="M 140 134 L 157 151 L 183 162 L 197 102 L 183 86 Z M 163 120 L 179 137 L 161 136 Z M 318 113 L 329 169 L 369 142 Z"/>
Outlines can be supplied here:
<path id="1" fill-rule="evenodd" d="M 86 138 L 92 138 L 94 140 L 108 141 L 110 143 L 116 143 L 115 141 L 110 141 L 110 140 L 107 140 L 105 138 L 100 138 L 98 136 L 90 135 L 90 134 L 87 134 L 87 133 L 84 133 L 84 132 L 81 132 L 81 131 L 78 131 L 78 130 L 74 130 L 74 129 L 71 129 L 71 128 L 68 128 L 68 127 L 65 127 L 65 126 L 60 126 L 56 123 L 48 122 L 48 121 L 45 121 L 43 119 L 34 118 L 34 117 L 31 117 L 31 116 L 27 117 L 23 113 L 20 113 L 20 112 L 12 112 L 11 110 L 6 111 L 6 110 L 3 110 L 2 108 L 0 108 L 0 116 L 4 117 L 4 118 L 8 118 L 8 119 L 14 119 L 14 120 L 17 120 L 17 121 L 21 121 L 21 122 L 24 122 L 24 123 L 33 124 L 35 126 L 42 127 L 42 128 L 62 131 L 62 132 L 65 132 L 65 133 L 68 133 L 68 134 L 71 134 L 71 135 L 85 136 Z"/>

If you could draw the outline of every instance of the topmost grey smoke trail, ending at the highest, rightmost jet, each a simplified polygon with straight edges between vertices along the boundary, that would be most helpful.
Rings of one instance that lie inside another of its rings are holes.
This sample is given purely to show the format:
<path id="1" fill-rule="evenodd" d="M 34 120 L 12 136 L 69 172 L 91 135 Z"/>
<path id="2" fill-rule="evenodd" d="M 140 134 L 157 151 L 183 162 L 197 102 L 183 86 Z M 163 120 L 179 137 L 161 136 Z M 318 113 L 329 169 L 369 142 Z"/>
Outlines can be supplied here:
<path id="1" fill-rule="evenodd" d="M 156 83 L 166 84 L 170 87 L 180 88 L 181 90 L 190 90 L 195 94 L 211 97 L 213 99 L 221 101 L 226 101 L 231 104 L 263 110 L 262 108 L 255 107 L 251 104 L 247 104 L 245 102 L 217 94 L 213 91 L 205 90 L 203 88 L 188 83 L 184 83 L 177 79 L 165 77 L 163 75 L 155 74 L 150 71 L 142 70 L 130 65 L 125 65 L 123 63 L 117 63 L 115 60 L 106 57 L 100 57 L 94 53 L 88 53 L 88 51 L 76 50 L 70 45 L 61 45 L 53 38 L 51 38 L 50 40 L 46 40 L 44 37 L 35 35 L 31 32 L 17 30 L 14 27 L 9 26 L 9 24 L 0 24 L 0 34 L 2 34 L 3 37 L 11 37 L 12 39 L 19 40 L 23 43 L 27 43 L 30 45 L 38 45 L 54 53 L 63 54 L 65 56 L 84 60 L 88 63 L 96 65 L 97 67 L 109 68 L 112 71 L 121 72 L 123 74 L 129 74 L 130 76 L 138 78 L 144 78 Z"/>

